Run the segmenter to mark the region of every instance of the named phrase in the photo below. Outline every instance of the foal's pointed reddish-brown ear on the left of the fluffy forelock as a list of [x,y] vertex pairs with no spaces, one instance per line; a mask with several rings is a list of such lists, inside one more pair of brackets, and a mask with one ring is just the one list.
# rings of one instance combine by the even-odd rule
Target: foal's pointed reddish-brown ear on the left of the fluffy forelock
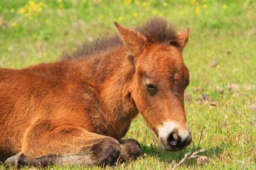
[[147,38],[145,36],[141,35],[137,31],[120,26],[117,22],[114,22],[114,24],[119,35],[122,37],[122,40],[125,42],[132,54],[136,56],[145,49],[147,45]]

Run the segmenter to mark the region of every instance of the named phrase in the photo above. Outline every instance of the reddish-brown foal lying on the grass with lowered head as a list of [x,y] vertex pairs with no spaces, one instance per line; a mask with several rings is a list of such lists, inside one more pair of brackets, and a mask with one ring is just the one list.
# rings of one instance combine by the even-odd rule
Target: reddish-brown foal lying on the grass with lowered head
[[[191,142],[184,112],[189,29],[152,19],[63,61],[0,69],[0,159],[6,164],[115,164],[141,155],[121,140],[140,112],[163,148]],[[17,154],[17,155],[15,155]]]

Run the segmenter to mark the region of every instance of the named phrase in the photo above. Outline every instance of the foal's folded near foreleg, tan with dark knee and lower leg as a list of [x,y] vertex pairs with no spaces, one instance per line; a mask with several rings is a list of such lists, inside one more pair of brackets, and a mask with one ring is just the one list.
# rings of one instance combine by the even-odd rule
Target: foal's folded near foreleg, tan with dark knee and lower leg
[[[43,120],[26,130],[21,153],[8,158],[6,164],[115,164],[121,148],[112,137],[74,126],[56,126],[51,120]],[[42,155],[45,156],[40,157]]]

